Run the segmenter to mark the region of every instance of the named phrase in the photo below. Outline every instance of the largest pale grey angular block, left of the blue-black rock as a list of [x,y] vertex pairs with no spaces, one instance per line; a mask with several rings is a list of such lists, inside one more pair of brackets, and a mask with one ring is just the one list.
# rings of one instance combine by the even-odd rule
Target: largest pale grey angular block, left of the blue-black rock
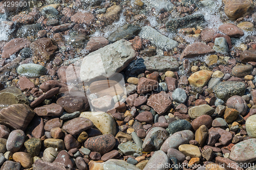
[[[90,53],[82,60],[81,81],[110,77],[123,70],[136,57],[132,43],[121,39]],[[100,68],[100,69],[99,69]]]

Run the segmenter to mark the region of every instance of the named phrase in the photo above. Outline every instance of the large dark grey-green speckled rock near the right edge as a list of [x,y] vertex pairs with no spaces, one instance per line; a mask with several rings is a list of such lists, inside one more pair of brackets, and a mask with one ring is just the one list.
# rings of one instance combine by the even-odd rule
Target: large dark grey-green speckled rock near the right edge
[[245,84],[242,82],[221,82],[214,87],[217,98],[226,101],[233,95],[242,96],[245,92]]

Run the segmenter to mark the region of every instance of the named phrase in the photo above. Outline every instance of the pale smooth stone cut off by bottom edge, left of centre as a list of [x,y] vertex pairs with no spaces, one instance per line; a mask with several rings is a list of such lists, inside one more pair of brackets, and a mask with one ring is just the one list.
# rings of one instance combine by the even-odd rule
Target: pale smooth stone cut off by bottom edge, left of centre
[[103,164],[103,170],[108,169],[119,169],[119,170],[139,170],[138,167],[136,167],[133,164],[130,164],[124,160],[118,160],[118,159],[109,159]]

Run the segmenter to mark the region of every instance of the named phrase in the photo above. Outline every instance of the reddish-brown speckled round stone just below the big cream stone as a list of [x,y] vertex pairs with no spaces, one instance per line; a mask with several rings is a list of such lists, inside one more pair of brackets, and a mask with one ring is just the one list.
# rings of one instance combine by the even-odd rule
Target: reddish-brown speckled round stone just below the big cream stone
[[84,148],[93,152],[99,152],[101,155],[110,152],[116,144],[116,139],[111,134],[89,137],[84,142]]

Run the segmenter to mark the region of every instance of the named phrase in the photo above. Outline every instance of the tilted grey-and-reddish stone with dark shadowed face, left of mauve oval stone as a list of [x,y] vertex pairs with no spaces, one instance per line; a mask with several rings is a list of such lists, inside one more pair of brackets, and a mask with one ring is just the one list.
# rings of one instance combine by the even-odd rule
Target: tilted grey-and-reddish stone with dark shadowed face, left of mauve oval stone
[[168,132],[161,127],[152,128],[146,135],[142,144],[143,152],[157,151],[167,139]]

